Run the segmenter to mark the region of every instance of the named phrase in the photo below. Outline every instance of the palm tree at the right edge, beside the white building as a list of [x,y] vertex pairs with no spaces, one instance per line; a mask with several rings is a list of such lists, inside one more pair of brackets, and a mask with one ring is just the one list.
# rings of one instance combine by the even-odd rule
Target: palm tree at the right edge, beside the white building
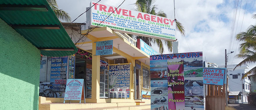
[[[256,14],[254,14],[252,18],[256,19]],[[256,63],[256,25],[250,25],[245,32],[238,33],[236,39],[242,42],[239,46],[239,54],[237,54],[236,57],[242,58],[243,61],[241,61],[235,68],[242,66],[243,64]],[[242,79],[246,78],[248,75],[253,75],[252,79],[256,81],[256,66],[246,72]]]

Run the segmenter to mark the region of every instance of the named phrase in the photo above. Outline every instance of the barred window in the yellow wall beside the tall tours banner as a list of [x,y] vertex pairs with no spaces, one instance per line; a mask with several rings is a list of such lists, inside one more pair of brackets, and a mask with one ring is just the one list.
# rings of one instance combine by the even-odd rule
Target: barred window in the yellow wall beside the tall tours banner
[[142,88],[150,89],[150,70],[142,66]]

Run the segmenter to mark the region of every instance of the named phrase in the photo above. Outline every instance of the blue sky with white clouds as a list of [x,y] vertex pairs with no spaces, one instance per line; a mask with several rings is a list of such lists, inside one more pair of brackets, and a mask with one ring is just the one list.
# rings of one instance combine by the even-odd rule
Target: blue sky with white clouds
[[[98,1],[98,0],[95,0]],[[119,6],[123,0],[102,0],[100,3]],[[120,8],[133,9],[136,0],[125,0]],[[70,14],[72,20],[86,11],[90,6],[90,0],[57,0],[59,9],[63,9]],[[185,36],[181,36],[177,31],[176,38],[179,41],[179,53],[203,52],[203,58],[207,62],[218,65],[225,64],[225,49],[228,54],[228,64],[238,64],[242,59],[234,58],[239,53],[239,44],[234,38],[237,33],[246,31],[250,25],[256,24],[256,19],[251,18],[256,14],[255,0],[239,0],[234,31],[232,30],[232,19],[234,13],[235,0],[176,0],[176,19],[185,27]],[[156,0],[158,10],[163,10],[167,18],[174,19],[173,0]],[[240,6],[241,4],[241,6]],[[246,10],[245,10],[246,6]],[[86,21],[86,14],[80,16],[74,23]],[[230,45],[230,36],[232,44]],[[187,41],[187,43],[186,43]],[[237,46],[238,44],[238,46]],[[156,45],[152,48],[159,51]],[[164,54],[169,54],[167,47],[164,47]],[[256,64],[249,65],[249,69]]]

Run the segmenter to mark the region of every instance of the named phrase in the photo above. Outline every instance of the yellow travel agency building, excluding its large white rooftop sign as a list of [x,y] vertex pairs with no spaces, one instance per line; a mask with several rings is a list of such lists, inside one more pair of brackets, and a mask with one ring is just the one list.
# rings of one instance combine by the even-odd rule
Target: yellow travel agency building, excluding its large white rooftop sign
[[[70,30],[66,29],[66,31],[69,33]],[[82,31],[82,34],[87,31]],[[149,52],[153,49],[150,49],[150,46],[142,40],[138,40],[137,43],[127,34],[113,31],[109,27],[95,28],[88,36],[90,37],[85,42],[77,43],[78,52],[74,55],[61,58],[42,57],[40,88],[51,90],[53,96],[40,97],[41,103],[63,102],[65,81],[67,79],[84,79],[86,102],[150,104]],[[113,40],[113,53],[110,55],[96,55],[98,47],[96,42],[109,40]],[[137,44],[139,47],[137,47]],[[156,52],[154,51],[154,53]],[[66,69],[54,69],[58,66]],[[50,86],[43,86],[44,84],[50,84]],[[116,98],[116,94],[113,96],[113,92],[109,94],[110,89],[116,91],[114,88],[125,89],[127,96],[122,94],[121,97],[119,93],[118,98]],[[127,98],[125,99],[125,97]],[[72,100],[71,102],[79,101]],[[41,108],[45,106],[40,105]],[[58,108],[62,107],[71,106],[61,105]],[[73,106],[72,108],[76,107]]]

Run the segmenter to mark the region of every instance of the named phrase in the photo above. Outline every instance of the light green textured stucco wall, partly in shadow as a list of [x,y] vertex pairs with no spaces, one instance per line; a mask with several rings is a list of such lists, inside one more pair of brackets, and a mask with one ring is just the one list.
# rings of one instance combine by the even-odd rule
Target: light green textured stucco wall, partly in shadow
[[37,110],[40,51],[1,18],[0,45],[0,110]]

